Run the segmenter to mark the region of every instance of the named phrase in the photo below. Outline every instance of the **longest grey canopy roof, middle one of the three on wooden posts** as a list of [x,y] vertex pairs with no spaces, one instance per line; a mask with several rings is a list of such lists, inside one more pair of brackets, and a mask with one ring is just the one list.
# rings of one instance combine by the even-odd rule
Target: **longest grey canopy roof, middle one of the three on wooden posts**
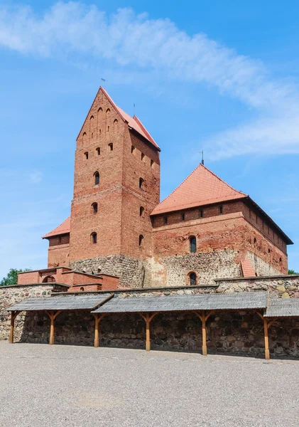
[[267,292],[240,292],[234,295],[161,295],[158,297],[117,297],[95,313],[167,312],[189,310],[245,310],[266,308]]

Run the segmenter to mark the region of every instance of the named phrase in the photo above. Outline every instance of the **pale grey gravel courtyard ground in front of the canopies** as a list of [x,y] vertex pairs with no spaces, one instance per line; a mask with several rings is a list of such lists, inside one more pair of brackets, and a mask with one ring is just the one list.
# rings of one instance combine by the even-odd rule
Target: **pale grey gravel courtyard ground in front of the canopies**
[[0,426],[299,425],[299,362],[0,342]]

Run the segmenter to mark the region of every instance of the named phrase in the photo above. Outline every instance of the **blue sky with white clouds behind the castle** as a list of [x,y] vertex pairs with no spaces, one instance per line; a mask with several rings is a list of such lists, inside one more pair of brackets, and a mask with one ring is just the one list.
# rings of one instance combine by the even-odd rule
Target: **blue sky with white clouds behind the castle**
[[162,149],[161,198],[200,162],[292,238],[299,271],[298,1],[1,1],[0,278],[44,268],[75,139],[104,88]]

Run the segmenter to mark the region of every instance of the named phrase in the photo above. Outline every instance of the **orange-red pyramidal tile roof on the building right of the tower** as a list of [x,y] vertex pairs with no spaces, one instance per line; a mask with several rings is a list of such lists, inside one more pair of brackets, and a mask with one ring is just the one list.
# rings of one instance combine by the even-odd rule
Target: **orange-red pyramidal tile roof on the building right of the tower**
[[200,164],[173,193],[153,209],[151,215],[245,197],[247,197],[247,194],[233,189],[229,184],[213,174],[210,169]]

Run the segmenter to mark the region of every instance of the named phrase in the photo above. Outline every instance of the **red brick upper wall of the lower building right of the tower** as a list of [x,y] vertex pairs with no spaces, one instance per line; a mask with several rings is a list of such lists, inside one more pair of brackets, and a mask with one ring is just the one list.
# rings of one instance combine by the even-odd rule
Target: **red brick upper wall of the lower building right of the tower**
[[[232,206],[235,208],[235,206]],[[239,263],[247,251],[281,273],[287,273],[286,254],[268,241],[241,212],[224,214],[211,218],[198,218],[178,222],[180,213],[171,214],[170,224],[154,228],[153,247],[155,256],[170,257],[190,254],[190,236],[197,238],[197,253],[221,250],[239,251],[235,262]],[[186,215],[186,218],[189,218]],[[176,223],[175,221],[178,220]],[[160,218],[155,219],[157,224]],[[256,239],[256,243],[254,243]],[[270,252],[269,252],[270,249]],[[281,261],[280,261],[281,258]],[[211,268],[213,266],[211,265]]]

